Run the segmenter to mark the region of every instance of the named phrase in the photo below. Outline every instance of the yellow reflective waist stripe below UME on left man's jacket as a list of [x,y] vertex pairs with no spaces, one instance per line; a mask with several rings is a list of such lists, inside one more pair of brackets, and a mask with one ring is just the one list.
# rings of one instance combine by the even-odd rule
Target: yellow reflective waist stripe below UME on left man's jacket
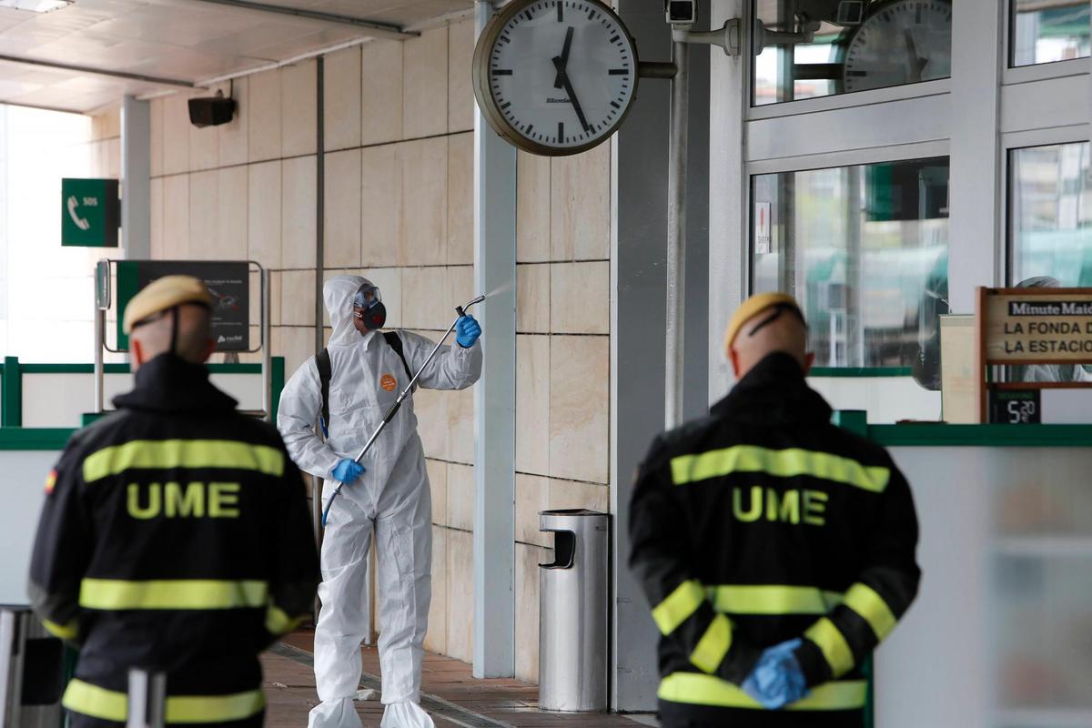
[[265,582],[85,578],[80,584],[80,606],[86,609],[236,609],[264,607],[268,594]]

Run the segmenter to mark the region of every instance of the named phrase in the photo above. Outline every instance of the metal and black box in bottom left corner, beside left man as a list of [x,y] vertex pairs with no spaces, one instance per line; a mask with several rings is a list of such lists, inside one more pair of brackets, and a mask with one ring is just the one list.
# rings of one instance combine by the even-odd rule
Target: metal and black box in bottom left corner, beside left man
[[0,606],[0,728],[61,725],[64,646],[25,607]]

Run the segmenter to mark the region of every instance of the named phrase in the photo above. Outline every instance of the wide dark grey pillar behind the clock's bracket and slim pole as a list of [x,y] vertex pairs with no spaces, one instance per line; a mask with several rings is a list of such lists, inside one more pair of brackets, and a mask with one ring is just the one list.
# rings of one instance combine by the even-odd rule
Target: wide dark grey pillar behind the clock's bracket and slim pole
[[[618,11],[637,40],[641,60],[670,57],[663,4],[619,0]],[[700,3],[709,28],[709,3]],[[717,50],[716,52],[721,52]],[[642,79],[633,108],[615,136],[612,155],[610,511],[615,514],[612,620],[612,708],[653,711],[656,704],[656,628],[631,576],[629,499],[632,476],[664,421],[664,336],[667,239],[669,83]],[[709,48],[690,49],[690,144],[687,180],[686,337],[684,415],[708,406],[709,319]]]

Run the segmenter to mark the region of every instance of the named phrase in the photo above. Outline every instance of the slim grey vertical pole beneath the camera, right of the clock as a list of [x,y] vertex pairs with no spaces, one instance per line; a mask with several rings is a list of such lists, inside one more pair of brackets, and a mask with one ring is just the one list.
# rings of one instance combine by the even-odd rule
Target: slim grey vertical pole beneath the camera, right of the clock
[[682,39],[672,43],[670,121],[667,147],[667,321],[664,426],[682,423],[682,354],[686,303],[686,176],[689,146],[690,49]]

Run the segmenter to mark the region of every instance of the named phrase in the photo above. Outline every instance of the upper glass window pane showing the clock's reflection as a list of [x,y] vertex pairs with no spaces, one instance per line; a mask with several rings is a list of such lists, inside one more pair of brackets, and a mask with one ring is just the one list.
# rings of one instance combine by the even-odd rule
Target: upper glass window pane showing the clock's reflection
[[753,104],[951,74],[948,0],[755,0]]

